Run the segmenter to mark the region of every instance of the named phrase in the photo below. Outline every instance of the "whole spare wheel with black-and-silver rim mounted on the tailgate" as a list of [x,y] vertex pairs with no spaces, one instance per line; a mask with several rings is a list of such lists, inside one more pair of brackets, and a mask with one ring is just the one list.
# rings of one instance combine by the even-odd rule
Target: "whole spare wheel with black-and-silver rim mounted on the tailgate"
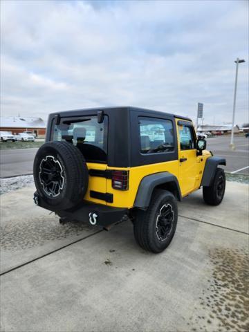
[[89,182],[86,160],[69,142],[46,142],[39,148],[33,168],[41,199],[58,210],[73,208],[82,201]]

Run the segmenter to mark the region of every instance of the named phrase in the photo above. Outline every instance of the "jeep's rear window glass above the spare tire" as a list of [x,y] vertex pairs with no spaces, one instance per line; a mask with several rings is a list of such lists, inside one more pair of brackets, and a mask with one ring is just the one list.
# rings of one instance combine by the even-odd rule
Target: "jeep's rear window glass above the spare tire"
[[53,126],[52,140],[64,140],[75,145],[86,161],[107,163],[108,118],[98,123],[97,116],[62,118]]

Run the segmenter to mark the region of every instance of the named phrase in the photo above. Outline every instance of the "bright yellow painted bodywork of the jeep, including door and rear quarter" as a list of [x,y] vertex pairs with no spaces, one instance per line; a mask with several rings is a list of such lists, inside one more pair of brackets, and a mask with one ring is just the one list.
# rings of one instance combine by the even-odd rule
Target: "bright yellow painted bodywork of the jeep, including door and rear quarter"
[[[116,169],[122,171],[129,171],[129,190],[116,190],[111,186],[111,179],[102,178],[100,176],[89,176],[89,188],[86,192],[85,199],[93,203],[100,203],[104,205],[113,206],[116,208],[133,208],[133,203],[136,199],[140,181],[147,175],[158,172],[169,172],[174,174],[178,179],[181,195],[186,196],[190,192],[199,189],[203,170],[207,158],[211,156],[210,152],[203,151],[202,156],[196,156],[196,149],[181,151],[178,125],[176,119],[176,130],[178,138],[178,160],[165,161],[164,163],[155,163],[149,165],[141,165],[137,167],[109,167],[105,164],[87,163],[89,169]],[[183,163],[180,163],[180,158],[187,158]],[[90,190],[102,193],[113,194],[113,203],[106,203],[100,199],[93,199],[90,197]]]

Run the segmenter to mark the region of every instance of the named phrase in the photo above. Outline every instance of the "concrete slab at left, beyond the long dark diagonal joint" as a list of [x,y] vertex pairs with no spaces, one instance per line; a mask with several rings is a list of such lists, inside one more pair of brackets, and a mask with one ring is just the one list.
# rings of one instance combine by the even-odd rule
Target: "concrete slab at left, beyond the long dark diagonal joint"
[[60,225],[54,213],[33,203],[34,192],[35,187],[26,187],[0,198],[0,273],[98,232],[83,223]]

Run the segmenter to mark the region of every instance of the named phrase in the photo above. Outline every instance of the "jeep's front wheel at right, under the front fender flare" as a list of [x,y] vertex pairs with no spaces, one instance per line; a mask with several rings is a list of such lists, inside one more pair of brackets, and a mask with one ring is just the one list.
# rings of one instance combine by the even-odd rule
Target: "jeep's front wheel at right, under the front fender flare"
[[[221,188],[222,186],[222,188]],[[210,187],[203,187],[203,199],[208,205],[219,205],[225,194],[225,172],[217,168]]]

